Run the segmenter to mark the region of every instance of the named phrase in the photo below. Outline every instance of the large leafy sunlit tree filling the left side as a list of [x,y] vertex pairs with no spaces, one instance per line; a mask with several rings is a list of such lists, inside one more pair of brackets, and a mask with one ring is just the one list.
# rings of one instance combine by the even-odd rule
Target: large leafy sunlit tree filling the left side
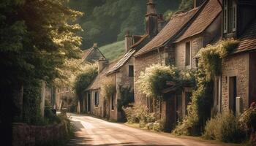
[[2,142],[10,144],[14,97],[30,80],[61,78],[64,61],[79,58],[81,28],[72,22],[82,13],[64,7],[64,0],[6,0],[0,7],[0,123]]

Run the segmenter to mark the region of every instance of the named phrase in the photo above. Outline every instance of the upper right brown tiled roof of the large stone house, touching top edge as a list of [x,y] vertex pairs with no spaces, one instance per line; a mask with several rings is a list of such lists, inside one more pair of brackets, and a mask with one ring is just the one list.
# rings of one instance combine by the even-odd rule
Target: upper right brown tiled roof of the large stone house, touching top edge
[[181,34],[175,42],[180,42],[188,37],[200,34],[211,25],[211,23],[217,18],[222,12],[222,7],[218,0],[209,0],[203,7],[202,11],[197,15],[197,18],[193,20],[192,24],[189,25],[186,31]]

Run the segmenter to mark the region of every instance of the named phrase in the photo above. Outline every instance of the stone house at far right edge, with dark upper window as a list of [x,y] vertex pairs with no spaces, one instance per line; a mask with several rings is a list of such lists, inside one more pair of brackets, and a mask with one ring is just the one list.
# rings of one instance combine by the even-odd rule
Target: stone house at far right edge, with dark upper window
[[222,38],[240,41],[214,80],[214,110],[239,115],[256,101],[256,1],[222,0]]

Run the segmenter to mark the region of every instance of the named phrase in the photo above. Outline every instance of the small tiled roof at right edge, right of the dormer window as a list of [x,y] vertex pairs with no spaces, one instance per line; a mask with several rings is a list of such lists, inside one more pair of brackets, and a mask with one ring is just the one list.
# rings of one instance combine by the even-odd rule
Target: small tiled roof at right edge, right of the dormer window
[[240,44],[234,53],[256,49],[256,19],[249,24],[249,27],[240,37]]

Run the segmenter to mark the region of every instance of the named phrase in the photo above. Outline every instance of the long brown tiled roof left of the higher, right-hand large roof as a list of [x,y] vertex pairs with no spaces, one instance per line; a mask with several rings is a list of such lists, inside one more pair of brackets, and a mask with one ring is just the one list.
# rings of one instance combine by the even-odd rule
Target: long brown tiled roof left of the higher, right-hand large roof
[[157,34],[154,39],[148,42],[143,48],[141,48],[135,56],[148,53],[151,50],[154,50],[156,47],[163,45],[169,39],[175,37],[175,35],[183,28],[189,20],[195,15],[198,8],[192,9],[189,12],[183,12],[181,14],[174,15],[173,18],[166,24],[164,28]]

